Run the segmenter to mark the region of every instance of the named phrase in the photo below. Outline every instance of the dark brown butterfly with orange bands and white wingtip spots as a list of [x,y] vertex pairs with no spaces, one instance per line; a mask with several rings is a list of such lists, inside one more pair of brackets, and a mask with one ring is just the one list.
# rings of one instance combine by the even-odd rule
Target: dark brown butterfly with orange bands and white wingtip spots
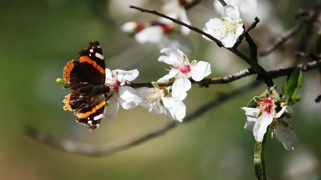
[[98,41],[89,42],[79,52],[78,60],[68,61],[64,68],[64,80],[73,90],[65,96],[64,110],[74,111],[77,122],[92,131],[99,127],[105,102],[112,96],[105,85],[105,61]]

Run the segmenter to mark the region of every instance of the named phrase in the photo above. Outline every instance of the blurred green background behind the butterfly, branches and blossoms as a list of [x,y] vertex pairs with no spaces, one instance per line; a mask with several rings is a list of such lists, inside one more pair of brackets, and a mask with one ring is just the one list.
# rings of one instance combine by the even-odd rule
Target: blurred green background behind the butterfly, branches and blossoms
[[[188,12],[196,27],[219,16],[212,0],[205,0]],[[259,51],[284,34],[298,21],[293,14],[299,8],[313,8],[316,1],[259,1],[269,7],[261,26],[251,31]],[[255,179],[253,170],[254,137],[243,129],[246,117],[239,109],[263,92],[261,85],[245,85],[255,76],[224,85],[211,85],[188,91],[187,114],[213,101],[222,93],[243,88],[244,93],[220,106],[199,114],[193,121],[170,130],[133,148],[104,157],[66,153],[41,144],[24,134],[30,125],[56,138],[71,139],[92,146],[118,142],[157,129],[171,120],[153,118],[143,107],[120,109],[114,121],[104,119],[99,129],[89,132],[75,122],[71,112],[62,109],[62,100],[70,90],[53,81],[62,77],[68,60],[89,41],[98,40],[110,69],[138,69],[135,82],[156,81],[167,72],[157,61],[161,55],[154,44],[138,44],[122,34],[119,27],[127,21],[147,22],[156,16],[128,9],[129,4],[160,9],[161,1],[1,1],[0,57],[2,133],[0,138],[1,180],[56,179]],[[260,17],[259,17],[260,18]],[[247,23],[248,24],[248,23]],[[314,34],[316,31],[314,31]],[[212,65],[210,77],[220,77],[247,68],[247,64],[192,32],[189,59],[205,60]],[[280,51],[260,59],[267,70],[293,65],[300,34]],[[240,47],[248,54],[247,44]],[[292,48],[292,49],[291,49]],[[311,48],[313,50],[313,48]],[[302,62],[302,61],[299,61]],[[275,80],[280,88],[286,78]],[[321,105],[314,99],[321,93],[316,70],[304,73],[303,100],[293,114],[293,127],[300,141],[290,152],[276,139],[268,138],[266,169],[268,179],[321,179]]]

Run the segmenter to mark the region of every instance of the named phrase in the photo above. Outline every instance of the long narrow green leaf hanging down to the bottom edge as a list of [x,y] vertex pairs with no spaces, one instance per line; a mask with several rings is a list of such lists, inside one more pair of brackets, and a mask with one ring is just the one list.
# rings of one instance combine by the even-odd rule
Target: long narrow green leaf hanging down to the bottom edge
[[265,144],[267,132],[264,134],[263,141],[256,141],[254,146],[254,169],[258,180],[266,180],[265,172]]

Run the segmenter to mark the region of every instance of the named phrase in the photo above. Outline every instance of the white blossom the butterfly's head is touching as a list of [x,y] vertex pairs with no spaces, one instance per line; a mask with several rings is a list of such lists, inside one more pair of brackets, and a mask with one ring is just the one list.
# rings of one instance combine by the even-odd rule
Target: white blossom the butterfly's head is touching
[[142,99],[137,96],[132,87],[124,86],[126,81],[133,81],[138,74],[137,69],[131,71],[106,69],[105,84],[109,85],[110,91],[113,91],[113,96],[109,99],[108,106],[105,108],[106,117],[109,120],[115,119],[119,104],[124,109],[133,109],[142,102]]

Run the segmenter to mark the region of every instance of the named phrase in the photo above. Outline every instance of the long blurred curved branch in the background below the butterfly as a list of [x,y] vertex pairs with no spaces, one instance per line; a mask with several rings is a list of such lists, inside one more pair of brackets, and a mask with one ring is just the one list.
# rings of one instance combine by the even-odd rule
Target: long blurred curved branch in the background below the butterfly
[[221,93],[220,95],[217,96],[216,99],[204,104],[203,106],[196,109],[193,113],[186,116],[183,122],[172,121],[163,127],[153,129],[152,131],[146,132],[135,138],[123,140],[123,141],[117,141],[115,143],[108,143],[106,145],[95,146],[91,144],[72,141],[70,139],[57,139],[55,137],[52,137],[48,133],[40,132],[37,129],[34,129],[32,127],[27,127],[25,133],[28,136],[34,138],[35,140],[41,143],[47,144],[53,148],[61,149],[69,153],[77,153],[77,154],[83,154],[83,155],[89,155],[89,156],[110,155],[118,151],[129,149],[133,146],[139,145],[155,137],[162,136],[169,130],[178,127],[178,125],[180,124],[186,124],[188,122],[194,121],[198,116],[202,115],[208,110],[213,109],[217,106],[220,106],[222,102],[226,102],[230,99],[233,99],[243,93],[248,92],[248,90],[250,89],[258,87],[259,85],[261,85],[261,82],[256,81],[254,83],[247,84],[239,89],[233,90],[229,93]]

